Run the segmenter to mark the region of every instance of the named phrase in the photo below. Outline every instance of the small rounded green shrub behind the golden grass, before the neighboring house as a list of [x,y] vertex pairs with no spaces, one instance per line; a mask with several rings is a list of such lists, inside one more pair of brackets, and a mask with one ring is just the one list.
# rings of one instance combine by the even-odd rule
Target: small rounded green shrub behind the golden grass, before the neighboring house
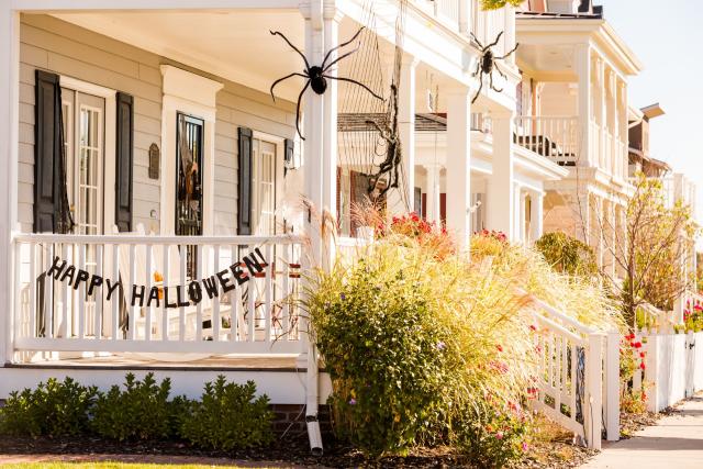
[[579,277],[598,275],[593,249],[566,233],[547,233],[535,243],[535,248],[558,272]]

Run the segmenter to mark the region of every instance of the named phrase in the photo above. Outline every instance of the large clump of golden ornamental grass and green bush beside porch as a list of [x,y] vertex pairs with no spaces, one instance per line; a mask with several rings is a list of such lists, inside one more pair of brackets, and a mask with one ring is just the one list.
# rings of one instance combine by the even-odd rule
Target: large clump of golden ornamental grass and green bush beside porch
[[475,236],[469,259],[416,215],[364,213],[377,239],[313,272],[305,294],[337,436],[371,455],[451,445],[481,467],[518,459],[537,376],[532,297],[603,330],[621,324],[614,306],[500,233]]

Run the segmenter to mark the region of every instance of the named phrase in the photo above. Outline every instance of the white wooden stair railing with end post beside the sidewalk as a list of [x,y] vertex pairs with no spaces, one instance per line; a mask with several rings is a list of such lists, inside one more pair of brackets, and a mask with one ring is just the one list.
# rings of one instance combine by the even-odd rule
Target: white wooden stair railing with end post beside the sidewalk
[[533,299],[537,322],[534,407],[600,449],[620,438],[620,334],[588,327]]

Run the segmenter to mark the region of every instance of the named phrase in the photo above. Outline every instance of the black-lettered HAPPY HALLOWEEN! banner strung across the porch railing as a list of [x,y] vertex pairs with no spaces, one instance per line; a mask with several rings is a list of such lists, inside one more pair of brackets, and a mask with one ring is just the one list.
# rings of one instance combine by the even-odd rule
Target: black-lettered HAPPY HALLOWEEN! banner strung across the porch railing
[[[96,273],[90,273],[87,270],[79,269],[76,266],[68,264],[67,260],[62,260],[60,257],[54,257],[54,263],[49,269],[42,273],[40,278],[49,277],[54,280],[67,282],[74,290],[78,290],[81,284],[87,287],[88,295],[92,295],[97,288],[103,288],[107,291],[105,300],[110,301],[112,295],[118,292],[120,295],[125,295],[125,291],[130,293],[129,302],[131,305],[140,308],[142,306],[161,306],[161,300],[164,300],[165,308],[181,308],[196,305],[200,303],[204,295],[209,299],[219,297],[220,291],[227,293],[234,290],[237,286],[244,284],[252,277],[264,271],[264,268],[268,266],[268,263],[264,258],[264,255],[259,248],[255,248],[253,253],[244,256],[242,261],[234,263],[224,270],[216,272],[210,277],[202,278],[200,280],[191,280],[185,286],[154,286],[147,288],[144,284],[122,284],[122,279],[114,281]],[[148,273],[147,273],[148,275]],[[155,277],[157,272],[154,273]],[[160,281],[160,280],[159,280]],[[107,290],[104,289],[107,288]]]

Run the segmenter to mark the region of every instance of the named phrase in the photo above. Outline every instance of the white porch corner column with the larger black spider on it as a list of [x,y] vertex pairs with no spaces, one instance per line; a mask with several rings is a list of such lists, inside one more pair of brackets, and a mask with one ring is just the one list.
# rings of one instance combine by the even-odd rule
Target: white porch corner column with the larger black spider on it
[[[314,4],[313,4],[314,3]],[[324,53],[324,24],[322,7],[312,2],[302,7],[305,19],[305,56],[310,64],[321,64]],[[327,80],[327,86],[332,83]],[[304,197],[310,204],[305,219],[305,234],[310,237],[310,263],[320,266],[323,260],[323,239],[321,217],[324,210],[324,98],[309,90],[304,94],[303,142],[304,156]]]

